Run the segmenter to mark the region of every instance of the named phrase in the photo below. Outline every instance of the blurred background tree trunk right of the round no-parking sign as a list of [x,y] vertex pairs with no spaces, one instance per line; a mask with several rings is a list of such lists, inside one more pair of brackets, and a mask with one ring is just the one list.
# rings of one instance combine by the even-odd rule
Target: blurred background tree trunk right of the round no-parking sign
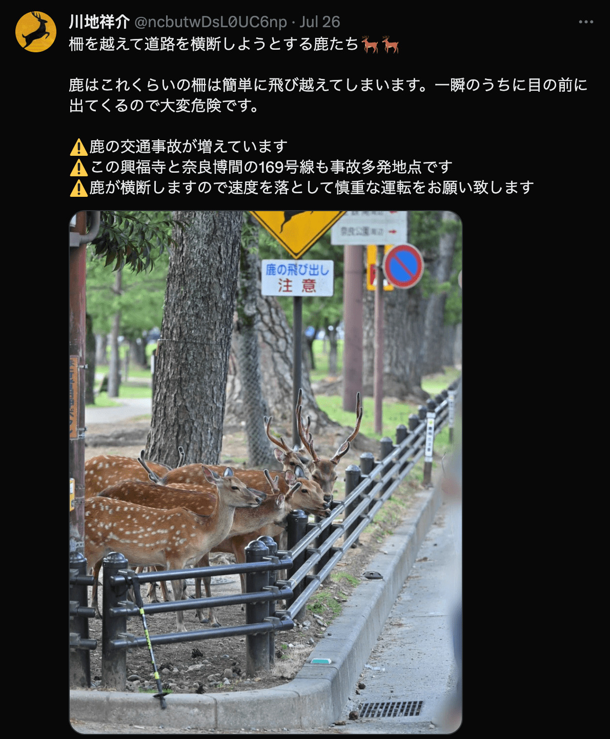
[[[458,222],[452,211],[441,211],[441,222]],[[446,282],[451,276],[453,252],[458,231],[450,228],[438,239],[438,257],[430,271],[437,284]],[[427,301],[424,318],[424,341],[421,344],[421,365],[424,375],[441,372],[443,369],[443,333],[446,293],[433,293]]]

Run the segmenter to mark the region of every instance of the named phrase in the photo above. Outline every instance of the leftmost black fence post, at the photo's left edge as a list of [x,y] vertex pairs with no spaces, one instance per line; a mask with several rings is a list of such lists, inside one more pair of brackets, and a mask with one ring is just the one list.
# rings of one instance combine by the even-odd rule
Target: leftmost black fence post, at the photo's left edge
[[[72,582],[72,578],[81,582]],[[81,552],[70,552],[70,687],[91,687],[91,663],[89,660],[89,615],[95,611],[87,608],[87,559]],[[92,578],[91,578],[92,579]]]

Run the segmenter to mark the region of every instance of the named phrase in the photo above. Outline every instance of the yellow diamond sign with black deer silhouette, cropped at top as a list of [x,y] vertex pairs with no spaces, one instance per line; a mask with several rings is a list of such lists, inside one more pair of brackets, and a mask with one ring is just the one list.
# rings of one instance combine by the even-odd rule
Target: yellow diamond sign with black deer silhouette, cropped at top
[[336,223],[345,211],[250,211],[294,259]]

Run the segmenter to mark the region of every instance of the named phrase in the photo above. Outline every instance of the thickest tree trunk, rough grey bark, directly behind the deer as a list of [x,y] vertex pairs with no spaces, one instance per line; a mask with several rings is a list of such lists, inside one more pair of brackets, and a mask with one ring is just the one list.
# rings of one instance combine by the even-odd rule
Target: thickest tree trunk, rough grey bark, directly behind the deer
[[146,454],[217,464],[223,440],[241,211],[177,211]]

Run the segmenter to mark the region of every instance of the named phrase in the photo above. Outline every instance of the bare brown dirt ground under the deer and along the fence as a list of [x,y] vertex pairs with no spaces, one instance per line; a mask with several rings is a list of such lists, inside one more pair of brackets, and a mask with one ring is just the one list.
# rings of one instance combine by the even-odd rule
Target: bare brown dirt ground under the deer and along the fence
[[[137,423],[125,422],[124,426],[142,426],[148,428],[148,421]],[[121,424],[117,424],[120,426]],[[113,424],[90,425],[88,435],[107,434],[115,429]],[[144,430],[143,438],[146,437]],[[346,434],[347,435],[347,434]],[[344,437],[345,439],[345,437]],[[336,434],[316,436],[316,449],[321,454],[333,454],[342,439]],[[363,437],[357,445],[359,449],[350,449],[342,457],[339,464],[339,479],[337,480],[334,497],[342,500],[345,491],[345,482],[342,472],[350,464],[359,463],[359,455],[363,449],[370,451],[378,449],[377,442],[367,443]],[[86,460],[98,454],[120,454],[126,457],[137,457],[143,444],[136,446],[87,446]],[[243,432],[236,431],[223,437],[221,463],[234,467],[235,471],[243,466],[246,459],[245,438]],[[395,494],[398,496],[401,509],[406,511],[412,492],[419,489],[419,483],[405,480]],[[393,521],[394,524],[399,520]],[[183,644],[157,645],[154,647],[155,661],[160,672],[163,689],[174,693],[211,693],[235,690],[257,689],[273,687],[291,680],[300,670],[306,658],[316,644],[329,631],[332,633],[332,619],[341,610],[341,604],[346,602],[350,592],[362,580],[362,574],[373,556],[383,548],[382,528],[389,531],[393,528],[392,522],[383,526],[370,526],[360,537],[359,544],[345,554],[341,562],[327,579],[322,588],[314,593],[305,613],[305,617],[296,622],[293,630],[276,634],[276,663],[274,669],[267,674],[248,676],[245,674],[245,637],[236,636],[221,639],[206,639]],[[339,539],[339,543],[340,543]],[[212,554],[211,564],[233,562],[231,555]],[[193,583],[193,581],[190,581]],[[187,584],[189,581],[187,581]],[[89,594],[91,589],[89,588]],[[224,595],[240,592],[239,576],[223,576],[212,580],[212,595]],[[146,603],[146,585],[141,590],[143,601]],[[160,596],[159,589],[157,593]],[[194,596],[194,585],[187,589],[189,596]],[[101,589],[100,589],[101,607]],[[217,610],[217,617],[223,626],[243,624],[245,614],[240,605],[226,606]],[[209,629],[209,624],[200,624],[194,610],[184,612],[187,629]],[[174,613],[157,613],[147,615],[146,621],[151,636],[160,633],[169,633],[176,630]],[[128,621],[128,630],[134,636],[143,636],[143,624],[139,617]],[[98,639],[98,648],[91,653],[92,683],[99,687],[101,684],[101,620],[89,620],[89,636]],[[144,648],[129,650],[127,655],[127,677],[129,690],[134,692],[150,690],[157,692],[152,677],[152,664],[149,651]]]

